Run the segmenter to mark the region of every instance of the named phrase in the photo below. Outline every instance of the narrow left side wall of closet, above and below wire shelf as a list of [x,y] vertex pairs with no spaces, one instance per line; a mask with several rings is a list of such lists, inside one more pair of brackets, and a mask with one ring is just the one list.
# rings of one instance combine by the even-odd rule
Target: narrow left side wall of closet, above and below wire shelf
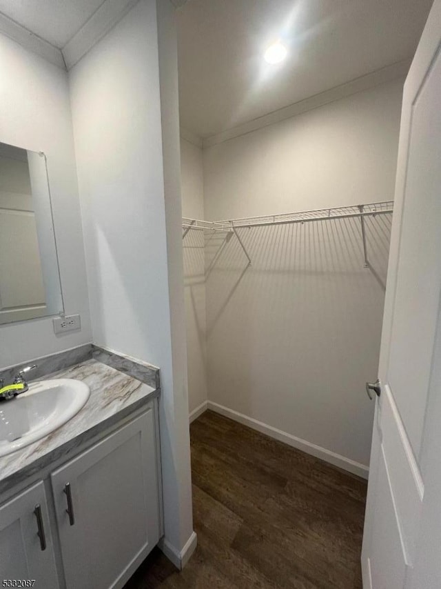
[[[202,150],[182,137],[181,186],[183,217],[203,219]],[[188,405],[190,412],[207,401],[204,246],[203,231],[190,230],[183,239]]]

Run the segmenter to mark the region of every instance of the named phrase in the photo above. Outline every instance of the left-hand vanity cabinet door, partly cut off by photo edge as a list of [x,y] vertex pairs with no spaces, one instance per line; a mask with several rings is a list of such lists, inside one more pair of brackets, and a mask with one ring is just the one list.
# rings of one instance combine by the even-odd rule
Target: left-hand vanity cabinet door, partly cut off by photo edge
[[0,581],[6,579],[59,587],[42,482],[0,507]]

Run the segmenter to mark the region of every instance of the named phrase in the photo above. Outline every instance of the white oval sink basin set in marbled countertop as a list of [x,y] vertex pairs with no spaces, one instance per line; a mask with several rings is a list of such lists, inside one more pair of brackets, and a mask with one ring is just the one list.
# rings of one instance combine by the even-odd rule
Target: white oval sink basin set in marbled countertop
[[72,419],[89,399],[87,384],[52,379],[29,385],[10,401],[0,401],[0,456],[20,450]]

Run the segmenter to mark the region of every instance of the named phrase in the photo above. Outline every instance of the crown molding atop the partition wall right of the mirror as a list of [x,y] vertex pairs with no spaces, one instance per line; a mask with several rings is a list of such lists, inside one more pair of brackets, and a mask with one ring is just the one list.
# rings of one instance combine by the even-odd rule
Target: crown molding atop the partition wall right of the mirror
[[104,35],[121,21],[139,0],[105,0],[61,50],[66,69],[78,63]]

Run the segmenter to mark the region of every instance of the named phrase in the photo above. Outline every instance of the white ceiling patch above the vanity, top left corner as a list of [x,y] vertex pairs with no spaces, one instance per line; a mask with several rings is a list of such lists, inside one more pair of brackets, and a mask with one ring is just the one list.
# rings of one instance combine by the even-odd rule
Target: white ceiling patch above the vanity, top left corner
[[0,0],[0,12],[62,49],[104,0]]

